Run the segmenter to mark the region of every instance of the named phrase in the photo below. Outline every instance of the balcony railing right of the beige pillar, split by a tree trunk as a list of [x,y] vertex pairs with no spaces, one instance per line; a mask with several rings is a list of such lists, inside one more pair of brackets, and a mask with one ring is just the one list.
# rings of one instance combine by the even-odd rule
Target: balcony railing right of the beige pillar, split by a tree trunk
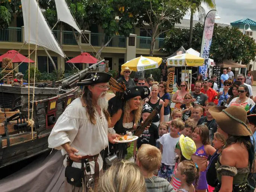
[[[155,39],[155,49],[160,49],[163,46],[165,38]],[[139,49],[150,49],[151,37],[140,37],[137,36],[136,47]]]

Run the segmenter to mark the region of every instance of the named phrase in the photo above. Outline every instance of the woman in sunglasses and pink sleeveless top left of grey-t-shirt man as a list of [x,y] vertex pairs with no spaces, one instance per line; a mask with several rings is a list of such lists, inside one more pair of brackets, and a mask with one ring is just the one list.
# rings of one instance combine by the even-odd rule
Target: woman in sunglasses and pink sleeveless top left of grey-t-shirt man
[[188,93],[188,87],[186,81],[181,81],[180,90],[174,93],[172,102],[175,103],[174,109],[181,109],[180,106],[183,104],[184,96]]

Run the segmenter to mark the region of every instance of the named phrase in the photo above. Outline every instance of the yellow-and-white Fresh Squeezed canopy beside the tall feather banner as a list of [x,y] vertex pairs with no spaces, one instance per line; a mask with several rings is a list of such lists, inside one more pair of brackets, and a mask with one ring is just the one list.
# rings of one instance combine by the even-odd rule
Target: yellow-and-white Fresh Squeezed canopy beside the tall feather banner
[[183,53],[181,55],[176,55],[167,59],[166,65],[172,67],[182,67],[182,66],[203,66],[204,58],[199,56],[191,55],[189,53]]

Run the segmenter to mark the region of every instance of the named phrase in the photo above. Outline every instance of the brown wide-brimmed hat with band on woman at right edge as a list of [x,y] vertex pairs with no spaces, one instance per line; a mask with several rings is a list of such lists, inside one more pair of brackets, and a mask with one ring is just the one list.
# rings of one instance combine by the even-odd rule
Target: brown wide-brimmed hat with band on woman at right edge
[[251,136],[251,130],[247,127],[247,114],[243,107],[230,106],[212,107],[209,113],[225,133],[232,136]]

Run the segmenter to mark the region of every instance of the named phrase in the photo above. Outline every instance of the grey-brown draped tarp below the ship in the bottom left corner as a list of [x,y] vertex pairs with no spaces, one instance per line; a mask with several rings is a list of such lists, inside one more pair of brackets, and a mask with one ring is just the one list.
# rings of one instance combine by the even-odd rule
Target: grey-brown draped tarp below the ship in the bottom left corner
[[53,150],[50,155],[37,158],[20,171],[0,180],[0,192],[63,192],[64,156]]

